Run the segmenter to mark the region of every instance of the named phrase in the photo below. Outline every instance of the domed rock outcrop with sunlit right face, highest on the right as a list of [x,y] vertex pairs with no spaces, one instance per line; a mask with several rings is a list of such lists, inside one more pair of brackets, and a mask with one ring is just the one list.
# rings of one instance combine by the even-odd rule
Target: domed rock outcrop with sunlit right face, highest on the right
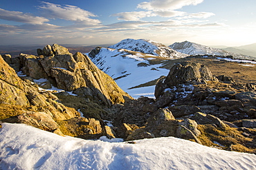
[[212,73],[205,65],[200,63],[180,63],[174,65],[165,79],[168,87],[184,83],[203,83],[214,80]]

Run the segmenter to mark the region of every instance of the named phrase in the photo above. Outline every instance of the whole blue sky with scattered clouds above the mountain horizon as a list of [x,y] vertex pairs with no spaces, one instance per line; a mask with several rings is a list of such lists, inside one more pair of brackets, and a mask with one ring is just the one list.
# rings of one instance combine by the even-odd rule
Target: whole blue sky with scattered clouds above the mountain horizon
[[0,45],[256,43],[255,0],[1,0]]

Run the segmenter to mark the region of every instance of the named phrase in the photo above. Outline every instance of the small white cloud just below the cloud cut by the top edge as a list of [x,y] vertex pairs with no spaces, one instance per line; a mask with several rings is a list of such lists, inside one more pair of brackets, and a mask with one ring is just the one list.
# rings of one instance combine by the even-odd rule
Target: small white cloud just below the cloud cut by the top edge
[[120,12],[118,14],[112,14],[113,17],[118,17],[118,20],[125,21],[140,21],[141,18],[154,17],[156,14],[151,11],[139,11],[139,12]]

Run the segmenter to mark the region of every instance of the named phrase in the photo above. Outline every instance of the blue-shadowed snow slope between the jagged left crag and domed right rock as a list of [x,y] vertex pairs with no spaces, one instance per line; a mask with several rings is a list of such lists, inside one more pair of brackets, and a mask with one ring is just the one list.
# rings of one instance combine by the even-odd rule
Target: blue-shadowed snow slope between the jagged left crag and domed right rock
[[137,85],[153,81],[166,76],[169,70],[159,68],[161,65],[151,65],[150,60],[158,57],[152,54],[132,52],[129,50],[113,50],[111,48],[98,48],[97,54],[89,54],[91,61],[100,70],[111,76],[121,89],[134,98],[148,96],[154,98],[154,87],[133,88]]

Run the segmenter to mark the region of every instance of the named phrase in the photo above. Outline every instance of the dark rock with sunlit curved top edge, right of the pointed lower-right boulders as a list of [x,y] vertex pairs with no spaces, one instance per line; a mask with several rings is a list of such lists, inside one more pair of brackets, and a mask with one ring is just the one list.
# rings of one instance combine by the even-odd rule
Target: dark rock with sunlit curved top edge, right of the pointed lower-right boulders
[[196,114],[194,114],[194,120],[199,125],[215,124],[221,128],[226,127],[226,125],[219,118],[212,116],[210,114],[203,114],[201,112],[196,112]]

